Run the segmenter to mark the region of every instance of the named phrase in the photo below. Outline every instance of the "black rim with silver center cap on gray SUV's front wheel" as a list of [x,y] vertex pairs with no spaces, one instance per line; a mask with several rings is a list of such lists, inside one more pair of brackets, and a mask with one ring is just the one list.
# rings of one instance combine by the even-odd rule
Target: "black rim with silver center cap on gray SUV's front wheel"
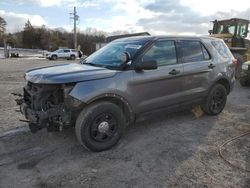
[[90,134],[95,141],[106,142],[115,136],[117,127],[117,120],[112,114],[102,113],[94,118]]

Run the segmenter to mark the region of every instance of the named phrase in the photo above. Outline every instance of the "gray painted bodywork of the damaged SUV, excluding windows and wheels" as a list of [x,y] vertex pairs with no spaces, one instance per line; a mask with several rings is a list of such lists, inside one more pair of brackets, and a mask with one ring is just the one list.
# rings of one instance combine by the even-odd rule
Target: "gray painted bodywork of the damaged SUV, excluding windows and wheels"
[[[145,37],[146,38],[146,37]],[[137,37],[123,40],[138,40]],[[140,39],[144,39],[140,37]],[[73,83],[70,95],[84,103],[94,99],[113,96],[128,102],[134,113],[144,113],[164,107],[181,106],[185,102],[203,99],[209,88],[219,79],[234,83],[234,67],[232,57],[222,58],[210,44],[209,37],[147,37],[152,41],[171,39],[198,40],[204,43],[212,54],[212,59],[201,62],[182,63],[160,66],[156,70],[136,71],[132,67],[140,61],[140,56],[132,61],[131,69],[124,71],[108,70],[87,65],[62,65],[36,69],[26,73],[26,79],[34,83],[64,84]],[[143,52],[142,52],[143,54]],[[210,69],[210,64],[215,68]],[[171,75],[171,70],[179,74]]]

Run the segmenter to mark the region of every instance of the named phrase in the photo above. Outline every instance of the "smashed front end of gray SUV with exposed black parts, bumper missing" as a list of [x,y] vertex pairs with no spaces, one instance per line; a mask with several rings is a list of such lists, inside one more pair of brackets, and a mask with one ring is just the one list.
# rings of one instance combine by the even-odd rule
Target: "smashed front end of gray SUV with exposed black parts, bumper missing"
[[69,95],[73,87],[74,84],[27,83],[22,98],[16,101],[31,132],[42,128],[59,131],[74,123],[82,103]]

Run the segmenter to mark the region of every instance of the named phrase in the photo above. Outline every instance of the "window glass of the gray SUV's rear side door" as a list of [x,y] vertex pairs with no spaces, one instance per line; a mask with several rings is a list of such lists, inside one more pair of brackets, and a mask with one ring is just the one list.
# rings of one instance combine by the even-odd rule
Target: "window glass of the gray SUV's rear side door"
[[180,41],[182,51],[182,62],[196,62],[209,60],[210,55],[200,41],[182,40]]

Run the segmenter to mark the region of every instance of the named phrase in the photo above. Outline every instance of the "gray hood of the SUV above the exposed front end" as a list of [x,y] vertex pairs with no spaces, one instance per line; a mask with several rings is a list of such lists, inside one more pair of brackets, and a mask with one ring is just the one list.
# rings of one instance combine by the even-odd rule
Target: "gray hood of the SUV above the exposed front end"
[[71,63],[29,70],[25,79],[32,83],[63,84],[108,78],[116,73],[102,67]]

